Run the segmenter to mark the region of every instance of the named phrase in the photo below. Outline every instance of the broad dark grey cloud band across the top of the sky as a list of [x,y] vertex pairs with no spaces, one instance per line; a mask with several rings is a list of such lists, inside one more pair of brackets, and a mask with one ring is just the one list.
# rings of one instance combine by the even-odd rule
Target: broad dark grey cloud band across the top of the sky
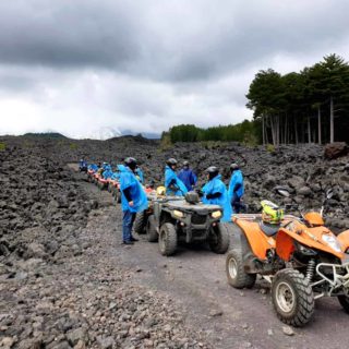
[[11,0],[0,62],[195,81],[348,35],[349,2]]

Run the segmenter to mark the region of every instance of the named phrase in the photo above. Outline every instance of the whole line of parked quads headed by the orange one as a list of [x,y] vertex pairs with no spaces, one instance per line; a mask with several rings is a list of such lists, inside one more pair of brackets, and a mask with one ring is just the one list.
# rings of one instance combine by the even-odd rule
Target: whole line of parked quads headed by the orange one
[[[120,202],[118,182],[88,177]],[[164,188],[146,188],[149,207],[137,215],[134,229],[149,242],[158,241],[166,256],[174,254],[180,241],[207,242],[215,253],[228,252],[228,284],[242,289],[252,288],[257,277],[270,282],[276,314],[288,325],[305,325],[313,317],[315,300],[323,297],[337,298],[349,313],[349,230],[335,234],[323,219],[333,191],[326,192],[320,212],[303,213],[288,188],[275,190],[290,204],[279,207],[263,201],[262,214],[237,214],[232,224],[222,224],[221,208],[202,204],[196,193],[171,197]],[[285,209],[298,214],[285,215]]]

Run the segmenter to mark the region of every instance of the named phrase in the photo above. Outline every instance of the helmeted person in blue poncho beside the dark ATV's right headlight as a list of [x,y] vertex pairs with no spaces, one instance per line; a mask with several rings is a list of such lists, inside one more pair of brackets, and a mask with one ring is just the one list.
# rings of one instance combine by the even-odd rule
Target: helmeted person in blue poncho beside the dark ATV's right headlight
[[206,169],[208,182],[202,189],[203,203],[210,205],[219,205],[222,208],[222,218],[220,221],[231,221],[231,206],[226,184],[221,181],[221,176],[216,166]]

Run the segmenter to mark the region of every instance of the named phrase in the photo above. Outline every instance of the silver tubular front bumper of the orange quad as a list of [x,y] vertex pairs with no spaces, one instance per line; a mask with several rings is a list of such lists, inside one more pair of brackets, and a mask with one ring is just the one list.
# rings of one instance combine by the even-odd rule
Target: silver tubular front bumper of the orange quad
[[[327,269],[326,274],[324,269]],[[328,269],[332,270],[332,278],[328,277]],[[321,280],[311,284],[312,288],[315,286],[327,284],[329,286],[329,289],[316,294],[315,299],[322,298],[324,296],[337,296],[336,292],[340,291],[340,288],[347,289],[349,291],[349,262],[346,264],[320,263],[316,265],[316,274],[321,277]]]

